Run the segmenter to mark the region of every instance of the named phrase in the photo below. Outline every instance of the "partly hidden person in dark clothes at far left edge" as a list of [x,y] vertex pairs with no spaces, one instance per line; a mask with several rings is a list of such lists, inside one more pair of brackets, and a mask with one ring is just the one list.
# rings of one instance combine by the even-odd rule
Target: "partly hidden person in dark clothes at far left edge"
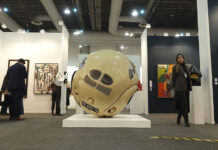
[[[9,107],[10,104],[10,98],[11,95],[8,92],[8,79],[7,79],[7,75],[5,75],[3,83],[2,83],[2,87],[1,87],[1,92],[2,94],[4,94],[4,102],[2,104],[2,108],[1,108],[1,114],[2,115],[6,115],[7,114],[7,108]],[[10,109],[9,109],[9,113],[10,113]]]

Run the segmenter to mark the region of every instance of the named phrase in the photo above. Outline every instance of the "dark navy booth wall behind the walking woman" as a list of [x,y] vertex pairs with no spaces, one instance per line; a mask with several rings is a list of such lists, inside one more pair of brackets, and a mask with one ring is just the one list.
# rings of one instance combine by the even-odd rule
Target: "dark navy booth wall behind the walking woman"
[[[175,64],[176,55],[182,53],[187,64],[200,68],[198,37],[148,37],[148,89],[149,113],[174,113],[175,99],[158,97],[158,64]],[[149,85],[150,86],[150,85]]]

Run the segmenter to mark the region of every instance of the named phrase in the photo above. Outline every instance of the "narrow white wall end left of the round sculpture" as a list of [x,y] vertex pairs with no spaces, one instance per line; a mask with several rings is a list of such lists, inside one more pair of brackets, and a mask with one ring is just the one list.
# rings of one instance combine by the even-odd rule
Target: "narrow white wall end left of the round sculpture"
[[[68,66],[68,44],[69,44],[69,33],[64,25],[62,25],[61,35],[61,65],[60,72],[64,73],[67,71]],[[65,76],[67,78],[67,76]],[[66,95],[67,95],[67,84],[61,86],[61,114],[66,113]]]

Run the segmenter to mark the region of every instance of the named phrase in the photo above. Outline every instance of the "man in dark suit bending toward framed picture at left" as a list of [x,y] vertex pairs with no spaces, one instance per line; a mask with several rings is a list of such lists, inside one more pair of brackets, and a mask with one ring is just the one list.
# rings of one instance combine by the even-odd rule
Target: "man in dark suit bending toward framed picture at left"
[[10,120],[23,120],[20,118],[21,105],[26,85],[27,71],[24,59],[19,59],[7,72],[8,89],[11,92]]

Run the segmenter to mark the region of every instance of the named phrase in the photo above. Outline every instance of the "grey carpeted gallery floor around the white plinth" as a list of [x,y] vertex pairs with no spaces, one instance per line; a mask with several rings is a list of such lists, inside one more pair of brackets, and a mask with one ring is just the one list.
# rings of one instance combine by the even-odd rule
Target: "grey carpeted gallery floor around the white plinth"
[[25,114],[23,121],[0,116],[0,150],[218,150],[218,125],[178,126],[176,114],[144,115],[150,129],[62,128],[74,113]]

